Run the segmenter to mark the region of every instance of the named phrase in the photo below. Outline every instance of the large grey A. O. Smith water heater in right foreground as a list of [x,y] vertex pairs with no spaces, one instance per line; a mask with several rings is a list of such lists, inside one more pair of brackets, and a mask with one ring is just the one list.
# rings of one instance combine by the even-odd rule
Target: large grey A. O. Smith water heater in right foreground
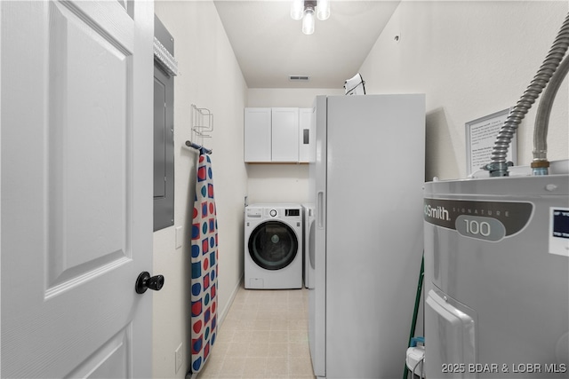
[[566,173],[425,184],[428,378],[569,377],[568,196]]

